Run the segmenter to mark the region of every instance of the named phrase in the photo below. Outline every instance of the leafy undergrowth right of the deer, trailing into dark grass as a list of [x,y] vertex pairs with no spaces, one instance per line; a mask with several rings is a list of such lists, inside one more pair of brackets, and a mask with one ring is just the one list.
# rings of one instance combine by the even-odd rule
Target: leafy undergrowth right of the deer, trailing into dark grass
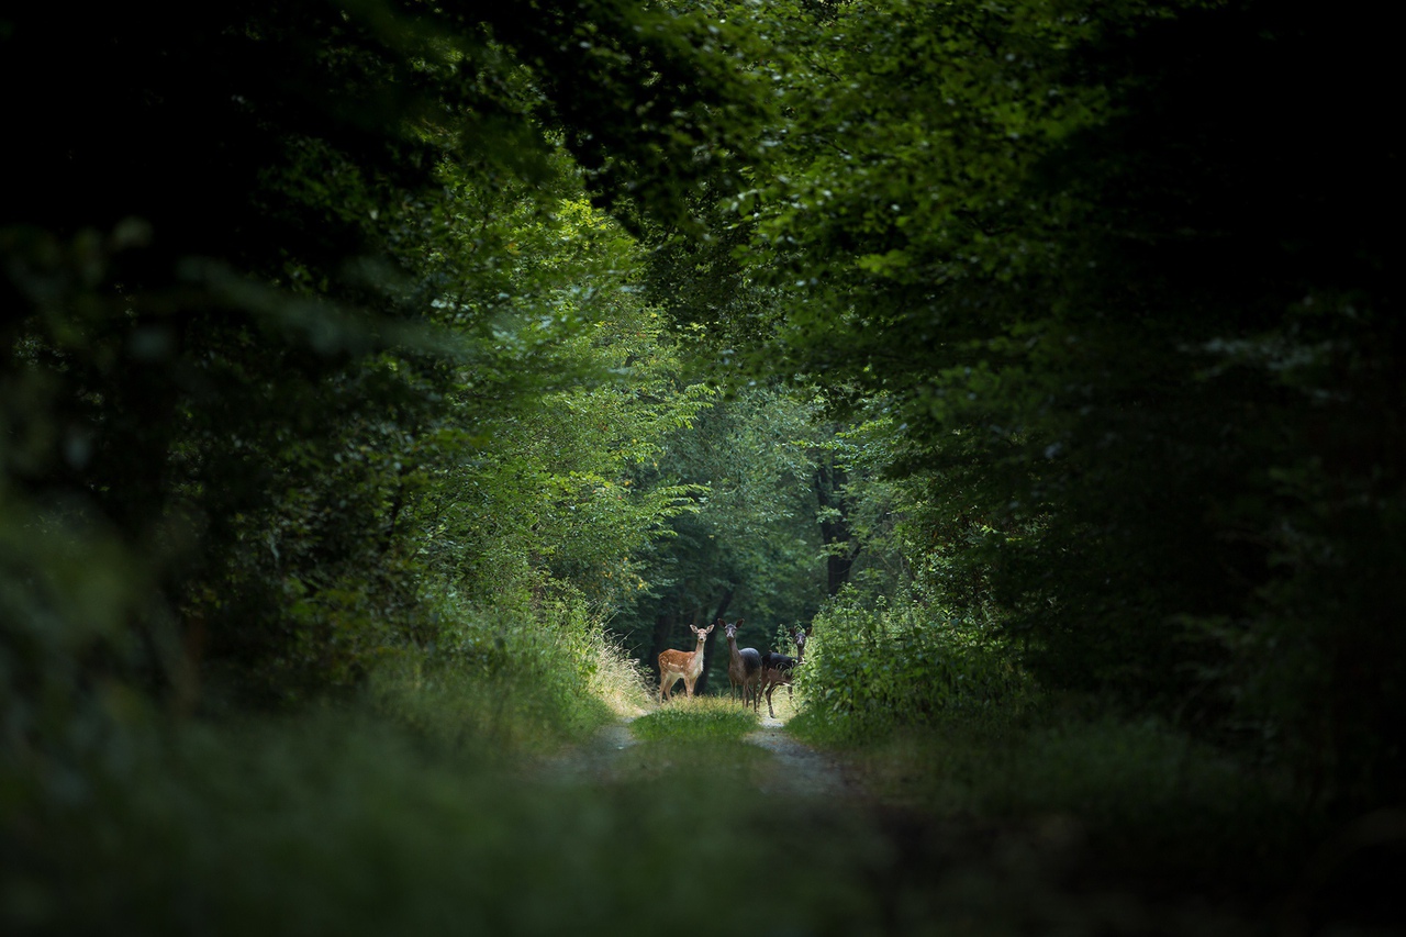
[[1123,871],[1209,891],[1292,878],[1322,820],[1268,772],[1156,719],[1085,715],[972,622],[907,597],[841,597],[813,626],[799,739],[844,753],[882,799],[942,817],[1060,817]]

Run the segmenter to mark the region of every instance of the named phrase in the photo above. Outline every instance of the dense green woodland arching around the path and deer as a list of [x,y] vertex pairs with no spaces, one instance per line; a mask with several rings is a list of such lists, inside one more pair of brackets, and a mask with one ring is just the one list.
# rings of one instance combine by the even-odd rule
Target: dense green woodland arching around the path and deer
[[[495,772],[650,706],[717,619],[808,629],[818,743],[898,740],[920,774],[960,739],[1043,753],[979,812],[1174,750],[1230,779],[1164,826],[1272,855],[1257,893],[1337,875],[1312,857],[1343,830],[1375,850],[1354,878],[1400,871],[1386,8],[0,13],[0,929],[447,929],[356,910],[343,840],[297,858],[217,817],[283,805],[315,840],[384,803],[346,836],[430,891],[406,857],[450,848],[447,803],[501,802],[456,815],[475,843],[607,850],[585,793],[543,816]],[[1090,726],[1112,761],[1056,768]],[[318,793],[343,777],[370,786]],[[673,810],[638,809],[638,836]],[[548,889],[581,871],[550,841],[510,864]],[[221,850],[330,884],[221,891]],[[170,906],[163,862],[193,869]],[[477,888],[489,931],[599,910]],[[845,907],[799,926],[905,927]]]

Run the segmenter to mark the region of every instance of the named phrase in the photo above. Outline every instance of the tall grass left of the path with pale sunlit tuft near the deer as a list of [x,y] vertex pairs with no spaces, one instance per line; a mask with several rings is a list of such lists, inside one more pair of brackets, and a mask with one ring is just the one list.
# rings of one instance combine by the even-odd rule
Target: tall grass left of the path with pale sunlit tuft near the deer
[[437,640],[384,653],[361,698],[278,718],[104,698],[87,756],[0,761],[0,933],[561,933],[633,913],[652,861],[583,874],[631,816],[520,775],[648,705],[579,602],[446,602]]

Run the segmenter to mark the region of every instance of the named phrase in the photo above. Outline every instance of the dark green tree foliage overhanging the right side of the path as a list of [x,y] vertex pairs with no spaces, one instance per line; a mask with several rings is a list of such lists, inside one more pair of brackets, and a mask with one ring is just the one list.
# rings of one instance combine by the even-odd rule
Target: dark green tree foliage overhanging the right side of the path
[[1360,802],[1406,765],[1379,15],[841,4],[778,25],[730,203],[785,310],[754,366],[890,408],[936,601]]

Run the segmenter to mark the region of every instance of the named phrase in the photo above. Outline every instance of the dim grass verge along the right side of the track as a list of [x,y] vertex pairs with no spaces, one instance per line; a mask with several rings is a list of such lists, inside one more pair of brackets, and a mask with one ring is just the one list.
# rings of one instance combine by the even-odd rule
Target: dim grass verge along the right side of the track
[[[821,744],[832,730],[797,719]],[[980,823],[1060,824],[1118,875],[1267,895],[1319,833],[1267,778],[1156,722],[966,716],[841,748],[890,803]]]

